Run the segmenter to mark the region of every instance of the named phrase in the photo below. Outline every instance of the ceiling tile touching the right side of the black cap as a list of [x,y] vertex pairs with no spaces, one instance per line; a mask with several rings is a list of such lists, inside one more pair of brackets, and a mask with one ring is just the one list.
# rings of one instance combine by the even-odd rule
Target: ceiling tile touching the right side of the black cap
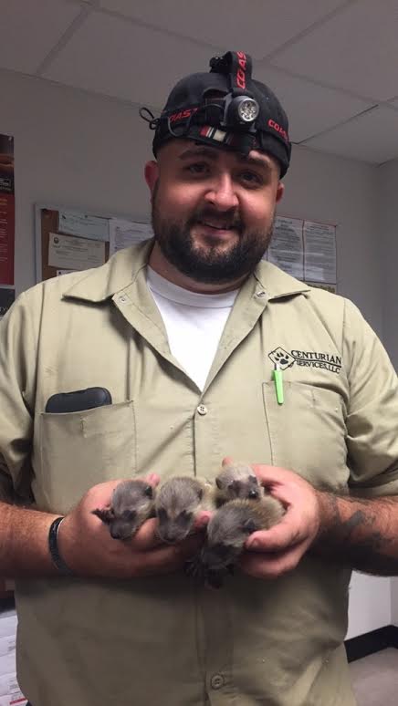
[[351,98],[333,88],[322,88],[272,67],[256,68],[255,76],[275,91],[288,113],[290,140],[293,142],[329,130],[372,106],[370,101]]

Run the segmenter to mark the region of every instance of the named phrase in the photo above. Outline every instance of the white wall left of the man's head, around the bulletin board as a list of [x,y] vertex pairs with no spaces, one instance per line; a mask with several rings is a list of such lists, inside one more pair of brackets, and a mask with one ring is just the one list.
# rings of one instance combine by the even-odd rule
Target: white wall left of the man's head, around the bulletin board
[[35,202],[146,216],[147,124],[131,106],[0,71],[0,132],[15,137],[16,288],[35,284]]

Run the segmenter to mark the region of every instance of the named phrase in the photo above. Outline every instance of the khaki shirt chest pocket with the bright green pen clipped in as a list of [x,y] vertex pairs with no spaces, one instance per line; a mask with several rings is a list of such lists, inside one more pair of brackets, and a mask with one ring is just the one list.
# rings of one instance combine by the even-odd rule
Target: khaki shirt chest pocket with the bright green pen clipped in
[[274,382],[263,384],[272,463],[317,487],[344,490],[349,469],[340,394],[298,382],[283,387],[284,402],[278,404]]

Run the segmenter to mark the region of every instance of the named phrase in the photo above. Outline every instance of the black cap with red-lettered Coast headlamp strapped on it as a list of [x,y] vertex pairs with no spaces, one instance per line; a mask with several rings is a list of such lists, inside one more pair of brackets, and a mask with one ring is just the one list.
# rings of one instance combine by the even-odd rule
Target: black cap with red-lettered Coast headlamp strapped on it
[[273,91],[251,78],[252,61],[244,52],[213,57],[210,72],[191,74],[173,88],[160,118],[147,119],[155,135],[156,157],[162,145],[183,137],[248,154],[265,151],[288,171],[291,145],[288,117]]

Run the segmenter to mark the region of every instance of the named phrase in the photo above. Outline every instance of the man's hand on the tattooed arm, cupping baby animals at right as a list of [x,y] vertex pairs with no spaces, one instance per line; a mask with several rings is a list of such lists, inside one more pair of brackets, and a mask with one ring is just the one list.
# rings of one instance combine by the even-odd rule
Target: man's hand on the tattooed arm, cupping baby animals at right
[[259,483],[286,508],[280,523],[250,535],[239,566],[257,578],[277,578],[294,569],[319,532],[317,491],[297,473],[254,464]]

